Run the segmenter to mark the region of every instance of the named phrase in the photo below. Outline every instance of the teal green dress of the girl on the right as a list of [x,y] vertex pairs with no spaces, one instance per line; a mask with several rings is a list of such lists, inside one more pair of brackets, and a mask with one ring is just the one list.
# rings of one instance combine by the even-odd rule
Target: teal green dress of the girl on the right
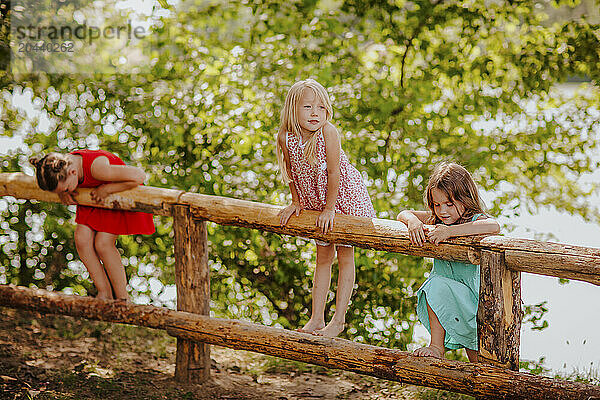
[[[473,216],[475,221],[482,214]],[[433,259],[429,278],[416,295],[417,316],[431,333],[427,303],[446,330],[448,349],[477,350],[477,305],[479,304],[479,265]]]

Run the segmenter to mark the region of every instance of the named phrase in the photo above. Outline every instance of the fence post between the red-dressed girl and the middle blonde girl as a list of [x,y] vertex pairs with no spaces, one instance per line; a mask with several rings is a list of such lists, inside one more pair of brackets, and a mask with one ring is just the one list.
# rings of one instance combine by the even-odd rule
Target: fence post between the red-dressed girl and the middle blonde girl
[[[173,206],[177,310],[210,313],[210,276],[206,221],[192,219],[189,206]],[[210,346],[177,339],[175,379],[201,383],[210,378]]]

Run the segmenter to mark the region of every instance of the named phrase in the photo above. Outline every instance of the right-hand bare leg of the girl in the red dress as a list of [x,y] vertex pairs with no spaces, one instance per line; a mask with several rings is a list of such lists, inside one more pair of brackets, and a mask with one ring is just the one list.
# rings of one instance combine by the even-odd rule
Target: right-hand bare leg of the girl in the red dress
[[94,246],[104,264],[110,283],[118,300],[129,300],[127,294],[127,275],[121,262],[121,254],[116,247],[117,236],[107,232],[96,232]]

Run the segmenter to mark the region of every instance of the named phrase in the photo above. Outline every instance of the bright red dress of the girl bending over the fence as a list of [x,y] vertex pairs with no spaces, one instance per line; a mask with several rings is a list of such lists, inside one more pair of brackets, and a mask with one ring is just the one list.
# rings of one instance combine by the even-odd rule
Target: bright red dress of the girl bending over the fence
[[[104,150],[77,150],[71,154],[80,155],[83,159],[83,182],[77,185],[81,188],[98,187],[104,183],[92,177],[92,162],[96,157],[106,156],[110,165],[125,165],[123,160]],[[75,222],[87,225],[96,232],[107,232],[115,235],[154,233],[152,214],[139,211],[112,210],[107,208],[77,206]]]

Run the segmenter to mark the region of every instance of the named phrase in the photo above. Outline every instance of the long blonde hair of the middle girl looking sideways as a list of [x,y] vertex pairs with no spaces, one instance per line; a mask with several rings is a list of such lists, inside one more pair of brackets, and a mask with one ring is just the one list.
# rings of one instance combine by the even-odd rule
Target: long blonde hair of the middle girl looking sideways
[[[302,133],[300,124],[298,122],[297,105],[300,97],[306,89],[312,89],[315,95],[323,102],[327,111],[326,120],[330,121],[333,118],[333,107],[329,100],[329,94],[327,90],[319,82],[314,79],[306,79],[304,81],[298,81],[292,85],[287,95],[285,96],[285,103],[281,110],[281,123],[279,125],[279,135],[286,134],[288,132],[296,135],[298,140],[302,142]],[[316,132],[315,132],[316,133]],[[310,139],[307,140],[306,146],[304,147],[304,156],[311,164],[317,162],[317,135],[313,134]],[[279,164],[279,171],[284,183],[289,183],[291,180],[290,171],[287,170],[287,165],[283,157],[283,148],[277,140],[277,163]]]

